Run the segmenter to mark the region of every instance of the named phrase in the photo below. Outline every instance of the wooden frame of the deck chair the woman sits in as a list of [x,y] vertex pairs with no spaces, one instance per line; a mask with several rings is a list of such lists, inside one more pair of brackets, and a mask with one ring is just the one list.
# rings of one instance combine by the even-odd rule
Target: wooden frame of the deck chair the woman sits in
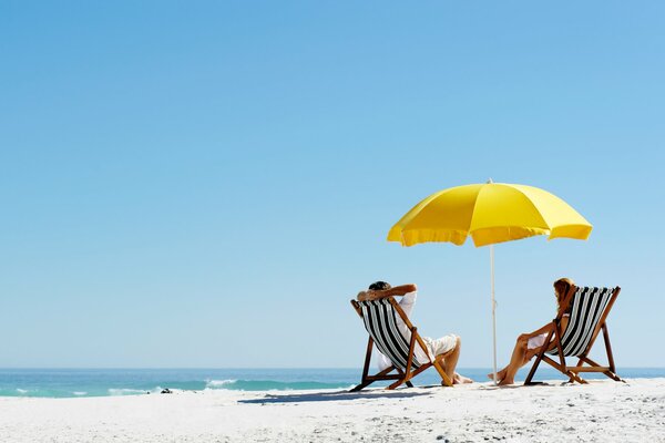
[[[602,311],[602,313],[597,320],[596,326],[593,329],[593,333],[591,334],[589,344],[586,344],[579,352],[573,352],[572,354],[566,354],[563,349],[564,346],[562,344],[562,340],[565,338],[565,332],[566,332],[566,331],[561,330],[561,319],[563,318],[563,315],[566,311],[569,311],[569,308],[573,308],[572,305],[575,301],[575,297],[582,297],[582,295],[592,297],[594,293],[602,295],[603,293],[602,291],[610,291],[610,298],[607,300],[607,303],[606,303],[604,310]],[[553,343],[553,344],[550,346],[549,348],[543,347],[543,349],[539,352],[535,361],[533,362],[533,365],[531,367],[531,371],[529,372],[529,375],[526,377],[526,380],[524,381],[524,384],[525,385],[539,384],[539,382],[533,382],[532,380],[533,380],[533,375],[535,374],[535,371],[538,370],[538,367],[541,363],[541,361],[544,361],[545,363],[550,364],[552,368],[562,372],[564,375],[566,375],[569,378],[569,382],[571,382],[571,383],[572,382],[587,383],[586,380],[584,380],[582,377],[580,377],[581,372],[601,372],[601,373],[607,375],[608,378],[611,378],[612,380],[623,381],[616,374],[616,368],[614,365],[614,357],[612,354],[612,344],[610,343],[610,333],[607,332],[607,323],[606,323],[607,316],[610,315],[610,311],[612,310],[612,306],[616,301],[616,297],[618,296],[620,291],[621,291],[621,288],[618,286],[613,289],[589,288],[589,287],[577,288],[575,286],[571,286],[571,288],[569,289],[569,292],[566,293],[566,296],[564,298],[564,301],[561,303],[561,307],[559,309],[556,318],[554,320],[552,320],[552,326],[553,326],[552,330],[550,331],[550,333],[548,333],[548,338],[545,339],[545,343]],[[574,315],[574,312],[571,312],[571,319],[569,319],[569,328],[572,327],[571,324],[573,321],[573,319],[572,319],[573,315]],[[589,320],[589,321],[593,321],[593,320]],[[583,328],[583,326],[580,324],[577,327],[577,329],[579,328]],[[594,344],[598,333],[601,332],[601,330],[603,331],[603,341],[605,342],[605,352],[607,354],[607,365],[602,365],[589,358],[589,352],[593,348],[593,344]],[[559,362],[556,362],[554,359],[545,356],[545,353],[557,354]],[[567,365],[567,363],[565,361],[566,357],[577,358],[579,359],[577,364],[574,367]]]

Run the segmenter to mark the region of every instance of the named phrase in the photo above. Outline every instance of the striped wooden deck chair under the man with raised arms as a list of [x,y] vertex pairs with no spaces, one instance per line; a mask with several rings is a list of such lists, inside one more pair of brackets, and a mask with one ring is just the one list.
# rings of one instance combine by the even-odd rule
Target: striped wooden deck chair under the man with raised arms
[[[424,371],[429,367],[434,367],[441,375],[442,384],[452,385],[452,381],[443,370],[442,360],[452,350],[446,354],[438,356],[436,359],[428,358],[428,361],[418,361],[416,356],[416,347],[419,346],[427,354],[427,347],[422,338],[418,334],[417,328],[411,324],[407,315],[401,309],[399,303],[392,297],[386,297],[379,300],[356,301],[351,300],[354,309],[360,316],[365,323],[365,329],[369,332],[367,342],[367,353],[365,357],[365,367],[362,369],[362,380],[360,384],[351,390],[351,392],[360,391],[362,388],[378,380],[396,380],[387,389],[395,389],[402,383],[412,388],[410,380]],[[410,331],[410,337],[405,337],[397,327],[397,316],[407,326]],[[372,346],[386,356],[391,367],[378,372],[375,375],[369,375],[369,363],[371,361]],[[391,373],[396,371],[396,373]]]

